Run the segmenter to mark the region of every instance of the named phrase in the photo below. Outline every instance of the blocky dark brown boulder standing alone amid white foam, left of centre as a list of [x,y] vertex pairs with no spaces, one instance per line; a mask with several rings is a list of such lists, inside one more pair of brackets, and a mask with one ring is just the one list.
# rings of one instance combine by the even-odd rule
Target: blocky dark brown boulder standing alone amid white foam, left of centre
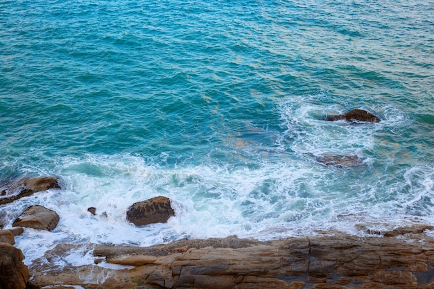
[[137,226],[167,222],[171,216],[175,216],[171,200],[161,196],[134,203],[127,211],[127,220]]

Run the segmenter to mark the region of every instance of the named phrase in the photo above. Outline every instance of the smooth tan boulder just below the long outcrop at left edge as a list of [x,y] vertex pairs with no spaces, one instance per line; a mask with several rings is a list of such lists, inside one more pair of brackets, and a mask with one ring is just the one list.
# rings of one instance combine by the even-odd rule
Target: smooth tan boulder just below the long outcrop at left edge
[[59,220],[59,215],[55,211],[35,205],[21,213],[12,226],[52,231],[58,225]]

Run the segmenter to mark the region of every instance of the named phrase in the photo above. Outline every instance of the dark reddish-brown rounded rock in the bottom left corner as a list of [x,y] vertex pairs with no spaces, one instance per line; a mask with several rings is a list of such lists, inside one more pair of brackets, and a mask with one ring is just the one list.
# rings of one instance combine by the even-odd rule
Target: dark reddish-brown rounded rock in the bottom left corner
[[28,269],[23,263],[24,254],[8,243],[0,243],[0,288],[24,289]]

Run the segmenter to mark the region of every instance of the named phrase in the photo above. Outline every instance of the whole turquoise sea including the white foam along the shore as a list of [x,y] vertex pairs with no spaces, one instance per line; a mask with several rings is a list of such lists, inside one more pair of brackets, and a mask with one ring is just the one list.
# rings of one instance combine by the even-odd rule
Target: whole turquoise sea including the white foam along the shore
[[[0,216],[60,215],[17,237],[27,263],[58,243],[434,225],[433,91],[434,1],[4,0],[0,180],[62,189]],[[356,108],[381,122],[324,121]],[[317,161],[345,155],[363,164]],[[157,195],[175,217],[126,222]]]

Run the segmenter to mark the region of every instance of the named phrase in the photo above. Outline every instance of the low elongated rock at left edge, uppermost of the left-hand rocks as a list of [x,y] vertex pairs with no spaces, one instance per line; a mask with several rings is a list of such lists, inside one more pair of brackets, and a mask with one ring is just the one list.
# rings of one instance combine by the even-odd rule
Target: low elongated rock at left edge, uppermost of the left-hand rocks
[[55,177],[34,177],[14,179],[0,186],[0,204],[8,204],[40,191],[60,189]]

